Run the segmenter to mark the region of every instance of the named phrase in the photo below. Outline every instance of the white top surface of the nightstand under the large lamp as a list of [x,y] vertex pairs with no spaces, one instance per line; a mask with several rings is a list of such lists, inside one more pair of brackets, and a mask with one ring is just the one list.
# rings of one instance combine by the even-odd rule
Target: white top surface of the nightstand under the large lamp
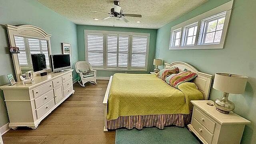
[[222,114],[218,112],[215,106],[209,106],[208,102],[214,104],[212,100],[191,100],[192,104],[203,111],[205,114],[213,118],[220,124],[250,124],[249,120],[246,120],[242,116],[230,112],[229,114]]

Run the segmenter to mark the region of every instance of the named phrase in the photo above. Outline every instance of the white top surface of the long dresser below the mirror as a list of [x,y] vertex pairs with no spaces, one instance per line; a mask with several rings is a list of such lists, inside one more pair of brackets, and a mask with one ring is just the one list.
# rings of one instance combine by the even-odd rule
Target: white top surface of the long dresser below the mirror
[[61,76],[64,76],[65,74],[68,74],[72,72],[73,69],[64,70],[63,72],[50,72],[45,76],[35,76],[34,77],[34,83],[28,83],[28,84],[22,84],[22,81],[16,82],[14,85],[6,84],[4,86],[0,86],[0,89],[30,89],[34,88],[36,86],[40,86],[40,84],[44,84],[46,82],[50,82],[54,80],[55,78],[59,78]]

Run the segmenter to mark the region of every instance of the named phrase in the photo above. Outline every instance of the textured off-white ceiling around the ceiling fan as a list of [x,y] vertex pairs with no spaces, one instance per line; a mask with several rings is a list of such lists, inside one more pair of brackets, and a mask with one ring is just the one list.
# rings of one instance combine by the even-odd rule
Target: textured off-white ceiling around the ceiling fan
[[[113,26],[113,19],[101,20],[110,12],[114,0],[38,0],[75,24]],[[130,22],[115,21],[117,27],[158,29],[207,0],[120,0],[124,14],[142,14],[142,18],[126,17]],[[100,20],[93,20],[98,18]],[[136,23],[140,20],[140,23]]]

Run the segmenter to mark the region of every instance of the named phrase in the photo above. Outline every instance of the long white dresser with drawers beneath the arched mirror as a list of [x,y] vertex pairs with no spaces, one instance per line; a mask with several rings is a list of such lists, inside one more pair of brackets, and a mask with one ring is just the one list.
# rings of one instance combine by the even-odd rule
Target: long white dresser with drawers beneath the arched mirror
[[10,86],[0,86],[9,116],[9,127],[27,126],[36,129],[38,124],[74,94],[72,71],[48,73],[34,77],[33,84],[17,82]]

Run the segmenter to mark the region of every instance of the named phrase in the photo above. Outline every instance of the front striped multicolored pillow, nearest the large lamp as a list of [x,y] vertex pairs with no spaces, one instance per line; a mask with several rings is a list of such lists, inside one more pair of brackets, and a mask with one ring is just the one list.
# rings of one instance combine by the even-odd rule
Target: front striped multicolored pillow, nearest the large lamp
[[170,86],[174,88],[178,88],[179,84],[182,84],[183,82],[188,82],[194,78],[196,78],[197,74],[190,71],[183,71],[178,74],[172,74],[170,76],[167,76],[165,81],[167,84],[170,84]]

